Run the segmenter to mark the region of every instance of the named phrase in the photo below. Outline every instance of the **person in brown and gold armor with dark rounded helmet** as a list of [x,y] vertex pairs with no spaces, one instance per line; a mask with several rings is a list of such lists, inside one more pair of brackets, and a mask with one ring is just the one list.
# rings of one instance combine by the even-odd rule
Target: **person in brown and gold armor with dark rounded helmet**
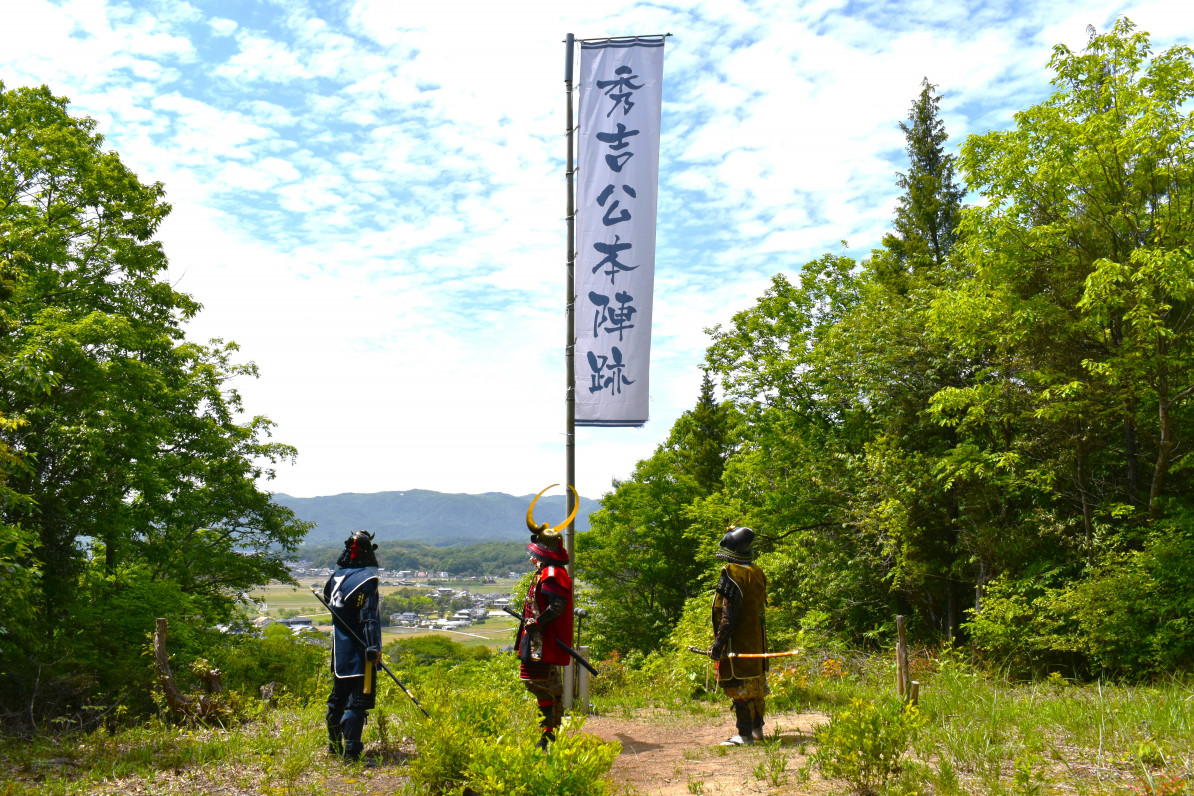
[[767,604],[767,575],[755,566],[750,545],[755,531],[738,526],[721,537],[716,557],[726,562],[713,597],[713,647],[718,685],[733,701],[738,733],[722,746],[741,746],[763,740],[767,659],[734,658],[767,652],[763,609]]

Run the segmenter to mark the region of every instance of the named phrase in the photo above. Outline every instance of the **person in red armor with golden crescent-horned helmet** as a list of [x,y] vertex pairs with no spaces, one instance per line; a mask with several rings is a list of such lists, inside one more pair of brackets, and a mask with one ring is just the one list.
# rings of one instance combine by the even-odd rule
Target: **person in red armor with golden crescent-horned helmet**
[[[572,489],[571,486],[568,488]],[[560,529],[566,527],[577,516],[580,500],[577,499],[572,514],[559,525],[536,525],[535,501],[543,492],[535,495],[527,510],[527,527],[531,533],[527,553],[535,564],[535,576],[523,603],[517,649],[521,662],[518,677],[535,697],[543,715],[540,721],[543,734],[538,740],[538,748],[547,749],[548,742],[555,740],[555,729],[564,718],[560,667],[571,661],[571,656],[556,640],[572,646],[572,578],[566,569],[568,554],[564,549]],[[577,490],[572,489],[572,494],[576,496]]]

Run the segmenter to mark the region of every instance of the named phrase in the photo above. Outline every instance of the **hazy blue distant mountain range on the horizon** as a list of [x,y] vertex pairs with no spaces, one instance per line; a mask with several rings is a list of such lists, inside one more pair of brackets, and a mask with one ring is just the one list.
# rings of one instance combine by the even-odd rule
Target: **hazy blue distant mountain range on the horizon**
[[[307,533],[307,544],[338,544],[352,531],[364,529],[383,541],[435,545],[527,541],[530,538],[527,506],[534,498],[533,494],[516,496],[487,492],[466,495],[429,489],[349,492],[324,498],[273,495],[298,519],[315,523],[315,527]],[[577,531],[589,530],[589,514],[598,508],[599,501],[580,499]],[[566,511],[564,495],[543,495],[535,504],[535,520],[554,525],[564,522]]]

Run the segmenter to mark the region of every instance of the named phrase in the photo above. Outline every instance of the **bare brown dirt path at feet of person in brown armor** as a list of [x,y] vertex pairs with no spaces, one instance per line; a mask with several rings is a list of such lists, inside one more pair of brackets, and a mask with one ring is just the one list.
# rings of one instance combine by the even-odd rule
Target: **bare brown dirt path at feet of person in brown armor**
[[[775,714],[768,716],[768,742],[744,747],[719,746],[733,734],[728,714],[590,716],[585,732],[622,745],[610,776],[644,796],[817,794],[829,790],[826,783],[816,773],[800,782],[796,772],[807,761],[801,748],[811,745],[813,727],[825,721],[818,712]],[[778,743],[771,740],[776,729]]]

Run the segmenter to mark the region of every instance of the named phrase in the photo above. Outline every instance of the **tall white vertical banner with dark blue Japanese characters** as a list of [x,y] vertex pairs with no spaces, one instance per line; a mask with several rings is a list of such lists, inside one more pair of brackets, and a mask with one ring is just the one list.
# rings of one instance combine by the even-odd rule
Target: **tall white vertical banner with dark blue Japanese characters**
[[576,425],[647,421],[664,39],[580,43]]

